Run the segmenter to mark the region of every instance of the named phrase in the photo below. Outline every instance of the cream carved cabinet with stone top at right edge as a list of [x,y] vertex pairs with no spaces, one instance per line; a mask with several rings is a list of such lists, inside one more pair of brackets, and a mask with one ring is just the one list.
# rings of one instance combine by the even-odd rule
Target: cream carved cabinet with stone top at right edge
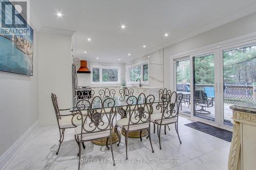
[[228,157],[229,170],[256,167],[256,102],[230,106],[233,135]]

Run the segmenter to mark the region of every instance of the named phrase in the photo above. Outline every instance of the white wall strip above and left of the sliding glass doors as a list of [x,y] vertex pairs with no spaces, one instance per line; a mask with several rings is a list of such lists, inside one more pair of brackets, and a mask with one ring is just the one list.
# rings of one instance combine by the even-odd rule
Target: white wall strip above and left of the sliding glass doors
[[256,32],[256,13],[164,48],[164,87],[173,89],[171,57],[206,45]]

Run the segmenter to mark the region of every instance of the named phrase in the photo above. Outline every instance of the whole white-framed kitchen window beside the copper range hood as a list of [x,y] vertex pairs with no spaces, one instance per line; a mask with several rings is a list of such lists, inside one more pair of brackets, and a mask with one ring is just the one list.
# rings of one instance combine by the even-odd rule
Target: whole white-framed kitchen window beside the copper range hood
[[119,84],[120,67],[91,66],[91,84]]

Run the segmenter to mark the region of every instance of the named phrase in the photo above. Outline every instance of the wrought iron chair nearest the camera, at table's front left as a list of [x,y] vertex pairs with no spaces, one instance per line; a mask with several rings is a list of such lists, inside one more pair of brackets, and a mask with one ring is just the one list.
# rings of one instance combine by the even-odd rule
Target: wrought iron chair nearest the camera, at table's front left
[[[81,121],[81,125],[75,128],[75,140],[78,144],[79,148],[79,165],[78,169],[80,169],[80,160],[81,160],[81,147],[85,148],[82,143],[84,141],[92,141],[102,138],[106,139],[106,148],[111,149],[113,165],[115,166],[115,160],[113,155],[113,148],[112,148],[112,126],[111,126],[111,119],[112,113],[115,106],[115,100],[112,98],[102,99],[99,96],[96,96],[89,100],[81,100],[76,104],[77,113],[82,115],[82,110],[87,110],[88,114],[83,116]],[[110,108],[111,111],[107,112],[105,109]],[[88,120],[88,123],[86,123]],[[110,143],[109,143],[110,140]]]

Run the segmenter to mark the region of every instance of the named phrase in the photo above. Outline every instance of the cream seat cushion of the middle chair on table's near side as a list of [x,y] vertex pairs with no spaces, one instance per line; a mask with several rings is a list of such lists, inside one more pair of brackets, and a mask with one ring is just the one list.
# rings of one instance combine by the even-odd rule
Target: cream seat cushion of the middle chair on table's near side
[[[137,122],[138,119],[135,119],[134,117],[131,118],[131,121],[133,123]],[[140,129],[146,129],[150,127],[150,123],[143,123],[140,122],[141,124],[134,124],[132,125],[130,122],[130,127],[129,127],[129,131],[136,131],[136,130],[140,130]],[[116,125],[119,126],[120,128],[124,128],[125,130],[128,129],[128,124],[129,124],[129,118],[121,118],[119,120],[117,120]]]

